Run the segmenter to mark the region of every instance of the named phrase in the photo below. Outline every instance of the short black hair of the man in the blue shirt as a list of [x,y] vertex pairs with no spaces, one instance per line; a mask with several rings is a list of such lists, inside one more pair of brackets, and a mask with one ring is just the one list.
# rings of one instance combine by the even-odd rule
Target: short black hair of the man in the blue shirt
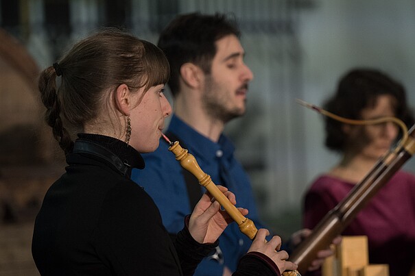
[[169,60],[171,71],[168,84],[173,96],[180,90],[182,64],[192,62],[209,74],[217,50],[215,42],[231,34],[240,36],[235,18],[230,19],[225,14],[182,14],[165,27],[158,39],[158,47]]

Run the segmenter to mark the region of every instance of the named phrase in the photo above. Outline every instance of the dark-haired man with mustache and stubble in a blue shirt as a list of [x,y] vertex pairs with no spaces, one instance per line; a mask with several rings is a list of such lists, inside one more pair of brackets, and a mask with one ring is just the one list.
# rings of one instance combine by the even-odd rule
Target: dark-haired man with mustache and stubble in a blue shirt
[[[248,83],[253,79],[239,35],[223,14],[184,14],[163,30],[158,47],[169,60],[168,84],[174,96],[166,134],[195,156],[215,184],[234,192],[237,206],[247,208],[248,217],[263,228],[248,175],[235,159],[232,142],[222,133],[228,121],[245,113]],[[202,195],[202,187],[167,148],[161,142],[154,153],[143,155],[145,170],[134,170],[132,179],[152,196],[163,224],[175,234]],[[230,275],[250,244],[236,223],[228,225],[220,236],[220,247],[202,261],[195,275]]]

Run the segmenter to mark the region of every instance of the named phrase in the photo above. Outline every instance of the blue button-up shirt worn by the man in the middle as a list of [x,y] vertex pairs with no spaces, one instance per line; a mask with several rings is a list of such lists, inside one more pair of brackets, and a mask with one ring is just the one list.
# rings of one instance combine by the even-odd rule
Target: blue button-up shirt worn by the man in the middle
[[[202,136],[177,116],[171,118],[169,132],[183,142],[189,153],[194,155],[200,168],[211,176],[213,183],[226,186],[236,196],[237,207],[247,208],[250,218],[257,228],[262,228],[252,195],[248,175],[235,159],[235,147],[221,135],[218,142]],[[170,233],[177,233],[183,227],[183,219],[192,212],[189,206],[187,186],[182,175],[182,167],[174,153],[168,151],[164,140],[154,153],[143,154],[145,169],[132,171],[132,179],[150,194],[160,209],[163,224]],[[201,191],[204,188],[200,186]],[[195,275],[222,275],[224,266],[235,271],[239,258],[250,247],[251,241],[241,231],[237,223],[231,223],[220,236],[220,249],[223,263],[215,258],[205,258],[199,264]],[[217,258],[216,258],[217,259]]]

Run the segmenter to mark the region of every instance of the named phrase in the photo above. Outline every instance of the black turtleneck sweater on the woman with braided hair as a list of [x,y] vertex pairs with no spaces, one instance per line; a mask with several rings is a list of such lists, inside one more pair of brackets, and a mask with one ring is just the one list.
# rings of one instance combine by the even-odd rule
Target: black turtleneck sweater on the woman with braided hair
[[191,275],[217,245],[195,242],[187,228],[171,241],[154,201],[130,180],[144,162],[125,142],[80,134],[67,163],[36,217],[41,275]]

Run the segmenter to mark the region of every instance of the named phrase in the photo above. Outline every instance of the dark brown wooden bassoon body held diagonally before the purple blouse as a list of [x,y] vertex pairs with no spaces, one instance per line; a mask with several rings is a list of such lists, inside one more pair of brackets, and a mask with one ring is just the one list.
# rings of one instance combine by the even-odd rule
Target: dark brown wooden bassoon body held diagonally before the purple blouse
[[329,247],[333,238],[340,235],[366,203],[390,180],[415,153],[415,125],[407,131],[402,145],[396,146],[380,158],[366,177],[314,227],[310,236],[301,242],[289,260],[298,264],[298,271],[305,273],[317,252]]

